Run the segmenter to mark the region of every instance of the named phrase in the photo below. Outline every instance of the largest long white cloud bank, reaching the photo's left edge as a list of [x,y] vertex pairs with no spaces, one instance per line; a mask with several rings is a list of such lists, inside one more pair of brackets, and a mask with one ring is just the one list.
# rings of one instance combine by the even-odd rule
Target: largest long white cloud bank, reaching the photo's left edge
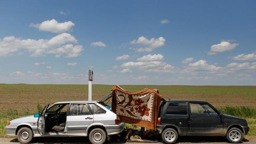
[[77,43],[77,40],[69,33],[58,34],[49,40],[4,37],[0,39],[0,56],[9,56],[21,49],[31,52],[31,56],[34,57],[45,56],[45,54],[56,54],[56,57],[66,54],[67,58],[81,55],[83,46],[71,43]]

